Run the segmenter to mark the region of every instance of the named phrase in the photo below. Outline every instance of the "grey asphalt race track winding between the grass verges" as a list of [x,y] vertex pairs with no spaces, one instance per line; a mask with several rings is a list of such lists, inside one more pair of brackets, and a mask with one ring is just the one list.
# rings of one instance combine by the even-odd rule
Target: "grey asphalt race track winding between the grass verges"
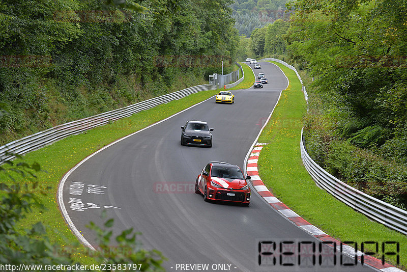
[[[232,91],[232,105],[216,104],[211,98],[104,149],[73,171],[65,182],[63,200],[83,237],[96,246],[95,235],[85,226],[90,221],[101,225],[100,214],[106,210],[114,219],[115,235],[128,228],[141,232],[138,238],[144,248],[157,249],[168,258],[167,271],[181,271],[180,264],[209,264],[209,271],[371,271],[360,263],[341,266],[339,258],[332,267],[282,266],[278,260],[275,266],[258,266],[259,239],[316,240],[253,188],[249,207],[207,203],[194,193],[195,179],[208,161],[243,168],[247,152],[286,88],[287,79],[277,66],[260,63],[255,74],[264,72],[269,81],[263,89]],[[215,129],[212,148],[180,145],[180,126],[187,120],[207,121]]]

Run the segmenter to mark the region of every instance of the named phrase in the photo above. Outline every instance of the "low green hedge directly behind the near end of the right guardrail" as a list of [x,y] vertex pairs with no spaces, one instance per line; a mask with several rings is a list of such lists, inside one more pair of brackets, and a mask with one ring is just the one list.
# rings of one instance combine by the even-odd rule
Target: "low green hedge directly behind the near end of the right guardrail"
[[327,172],[368,195],[406,209],[406,165],[384,159],[348,141],[324,142],[319,134],[308,130],[306,135],[308,153]]

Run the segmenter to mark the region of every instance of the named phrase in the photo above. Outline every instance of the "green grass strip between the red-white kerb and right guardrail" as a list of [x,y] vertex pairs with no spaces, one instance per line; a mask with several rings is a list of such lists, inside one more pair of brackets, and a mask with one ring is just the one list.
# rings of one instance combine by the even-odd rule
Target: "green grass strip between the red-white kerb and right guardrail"
[[[382,224],[371,222],[363,214],[318,188],[304,168],[300,138],[306,102],[301,83],[294,71],[275,64],[288,77],[289,87],[282,92],[270,122],[258,139],[260,143],[269,143],[264,146],[258,160],[261,179],[280,201],[305,220],[336,239],[357,242],[358,250],[364,241],[378,242],[379,253],[382,252],[382,242],[399,242],[398,267],[405,269],[407,238]],[[373,248],[369,249],[375,251]],[[389,247],[387,252],[390,251],[396,251],[396,248]],[[375,257],[381,258],[382,254]],[[395,256],[386,256],[386,261],[396,265]]]

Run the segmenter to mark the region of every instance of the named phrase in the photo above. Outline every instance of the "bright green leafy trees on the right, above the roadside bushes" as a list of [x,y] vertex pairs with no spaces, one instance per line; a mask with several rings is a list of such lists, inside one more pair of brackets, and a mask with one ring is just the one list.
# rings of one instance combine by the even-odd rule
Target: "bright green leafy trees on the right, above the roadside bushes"
[[[360,146],[384,144],[394,137],[389,129],[405,121],[385,102],[403,96],[407,86],[401,57],[407,41],[405,6],[401,0],[295,3],[289,50],[317,76],[315,88],[342,95],[359,122],[344,121],[338,129]],[[368,136],[364,128],[372,126],[378,126],[377,132]]]

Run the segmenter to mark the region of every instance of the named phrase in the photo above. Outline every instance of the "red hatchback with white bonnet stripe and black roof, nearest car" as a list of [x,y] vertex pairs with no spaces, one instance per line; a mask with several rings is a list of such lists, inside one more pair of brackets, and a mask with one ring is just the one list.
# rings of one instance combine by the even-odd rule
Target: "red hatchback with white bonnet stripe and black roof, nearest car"
[[210,161],[202,169],[195,182],[195,193],[202,194],[203,200],[221,200],[250,204],[250,187],[242,170],[221,161]]

